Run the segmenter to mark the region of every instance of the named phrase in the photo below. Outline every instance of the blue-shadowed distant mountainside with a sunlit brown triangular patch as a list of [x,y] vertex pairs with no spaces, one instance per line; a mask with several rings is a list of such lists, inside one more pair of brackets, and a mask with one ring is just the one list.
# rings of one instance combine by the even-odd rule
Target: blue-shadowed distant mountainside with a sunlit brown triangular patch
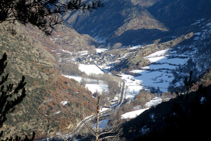
[[99,42],[114,45],[152,43],[159,38],[187,34],[191,24],[210,18],[210,0],[105,0],[91,13],[65,15],[68,26]]

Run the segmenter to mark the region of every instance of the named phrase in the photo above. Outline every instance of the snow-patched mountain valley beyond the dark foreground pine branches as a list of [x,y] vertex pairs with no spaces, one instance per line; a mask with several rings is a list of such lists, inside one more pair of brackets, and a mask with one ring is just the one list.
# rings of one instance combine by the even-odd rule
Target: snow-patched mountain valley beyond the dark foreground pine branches
[[[169,137],[176,122],[178,129],[189,119],[188,124],[196,123],[199,115],[191,112],[206,116],[211,1],[102,2],[97,10],[63,14],[51,36],[32,25],[0,24],[0,55],[8,55],[9,81],[17,84],[24,75],[27,82],[26,98],[1,128],[5,135],[35,131],[37,140],[94,139],[82,123],[96,126],[97,96],[102,131],[121,124],[119,140]],[[190,87],[186,78],[193,81]],[[174,118],[183,116],[184,122]]]

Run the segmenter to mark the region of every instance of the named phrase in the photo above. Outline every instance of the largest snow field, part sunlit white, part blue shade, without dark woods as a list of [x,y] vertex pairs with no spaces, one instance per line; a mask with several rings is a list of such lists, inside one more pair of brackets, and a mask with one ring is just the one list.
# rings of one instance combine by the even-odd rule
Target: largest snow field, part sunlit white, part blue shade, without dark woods
[[126,98],[133,98],[141,89],[151,89],[152,87],[161,92],[168,91],[170,82],[174,79],[172,71],[184,65],[188,60],[189,54],[179,54],[171,49],[157,51],[145,57],[151,64],[141,70],[132,70],[139,76],[121,74],[127,86]]

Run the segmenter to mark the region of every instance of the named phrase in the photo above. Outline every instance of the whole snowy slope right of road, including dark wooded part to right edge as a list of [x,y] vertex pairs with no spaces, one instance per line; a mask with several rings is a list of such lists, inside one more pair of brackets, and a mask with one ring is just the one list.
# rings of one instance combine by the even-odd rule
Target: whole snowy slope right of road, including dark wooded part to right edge
[[131,71],[139,76],[121,74],[128,86],[127,97],[132,98],[141,89],[166,92],[169,87],[182,86],[191,70],[197,78],[211,66],[211,21],[198,20],[196,24],[201,29],[194,33],[191,42],[145,56],[151,64]]

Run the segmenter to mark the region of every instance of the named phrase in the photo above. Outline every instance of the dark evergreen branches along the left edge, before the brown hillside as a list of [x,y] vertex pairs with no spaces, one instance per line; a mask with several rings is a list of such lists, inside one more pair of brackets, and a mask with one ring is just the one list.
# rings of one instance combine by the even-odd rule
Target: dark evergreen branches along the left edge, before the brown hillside
[[[7,55],[6,53],[0,59],[0,128],[3,123],[7,120],[7,114],[15,110],[15,106],[21,103],[26,96],[25,90],[25,77],[23,76],[21,81],[15,86],[14,84],[7,84],[7,79],[9,74],[4,74],[5,68],[7,66]],[[0,140],[2,140],[3,131],[0,132]],[[6,140],[33,140],[35,133],[33,132],[32,138],[25,136],[24,139],[16,136],[15,139],[7,138]]]

